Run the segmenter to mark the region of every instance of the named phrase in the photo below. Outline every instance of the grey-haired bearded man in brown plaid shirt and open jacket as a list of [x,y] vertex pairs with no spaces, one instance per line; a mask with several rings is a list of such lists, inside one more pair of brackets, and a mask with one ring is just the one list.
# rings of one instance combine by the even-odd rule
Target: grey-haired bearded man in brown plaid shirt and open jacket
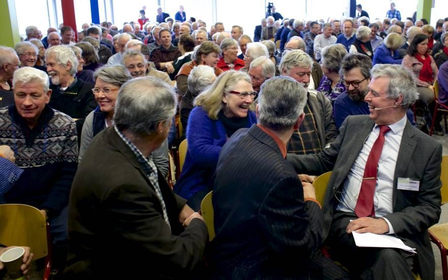
[[297,154],[318,153],[338,135],[330,101],[322,92],[308,88],[312,66],[313,60],[302,50],[286,52],[279,65],[282,76],[295,79],[308,91],[303,125],[294,131],[288,145],[288,151]]

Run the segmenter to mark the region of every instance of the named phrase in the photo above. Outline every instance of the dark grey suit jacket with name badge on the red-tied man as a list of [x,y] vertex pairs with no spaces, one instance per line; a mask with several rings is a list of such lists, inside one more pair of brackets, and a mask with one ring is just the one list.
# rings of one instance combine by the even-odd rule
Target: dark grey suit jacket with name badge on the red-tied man
[[[320,174],[333,170],[325,195],[324,238],[329,234],[333,211],[348,172],[361,151],[375,123],[368,115],[348,116],[331,146],[319,154],[288,154],[287,159],[298,173]],[[386,215],[397,236],[417,248],[423,279],[434,279],[434,256],[427,229],[440,216],[440,164],[442,146],[412,127],[407,121],[398,152],[393,184],[393,213]],[[397,178],[417,178],[420,191],[397,189]]]

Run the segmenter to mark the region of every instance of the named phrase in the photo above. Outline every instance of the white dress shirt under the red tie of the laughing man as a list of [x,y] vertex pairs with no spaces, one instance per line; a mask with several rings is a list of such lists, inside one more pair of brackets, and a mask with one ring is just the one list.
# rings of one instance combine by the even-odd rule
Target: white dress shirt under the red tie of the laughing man
[[[393,212],[392,194],[395,188],[394,174],[397,164],[398,151],[400,150],[401,137],[406,126],[406,115],[399,121],[389,125],[391,131],[385,134],[385,142],[378,161],[378,173],[376,176],[375,192],[373,195],[373,207],[375,217],[383,217]],[[375,125],[372,132],[367,136],[364,146],[358,154],[358,158],[350,169],[344,181],[342,191],[336,194],[340,201],[337,210],[344,212],[355,212],[358,195],[361,190],[362,178],[366,167],[370,150],[379,135],[379,127]],[[402,163],[404,164],[404,163]],[[387,219],[389,233],[394,233],[392,225]]]

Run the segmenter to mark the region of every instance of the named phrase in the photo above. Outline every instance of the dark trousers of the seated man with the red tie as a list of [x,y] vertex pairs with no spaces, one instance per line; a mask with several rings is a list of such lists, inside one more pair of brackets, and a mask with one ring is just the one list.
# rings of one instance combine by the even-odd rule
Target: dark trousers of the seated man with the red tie
[[414,254],[395,248],[358,247],[346,233],[355,213],[336,211],[327,239],[332,258],[341,262],[354,279],[413,279]]

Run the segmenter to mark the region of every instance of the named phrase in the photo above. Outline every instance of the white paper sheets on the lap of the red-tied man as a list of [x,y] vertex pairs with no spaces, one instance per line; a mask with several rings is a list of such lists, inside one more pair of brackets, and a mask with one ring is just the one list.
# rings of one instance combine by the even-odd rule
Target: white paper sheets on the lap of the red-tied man
[[401,250],[415,253],[415,248],[406,246],[400,238],[388,234],[357,233],[352,232],[355,243],[358,247],[380,247],[399,248]]

